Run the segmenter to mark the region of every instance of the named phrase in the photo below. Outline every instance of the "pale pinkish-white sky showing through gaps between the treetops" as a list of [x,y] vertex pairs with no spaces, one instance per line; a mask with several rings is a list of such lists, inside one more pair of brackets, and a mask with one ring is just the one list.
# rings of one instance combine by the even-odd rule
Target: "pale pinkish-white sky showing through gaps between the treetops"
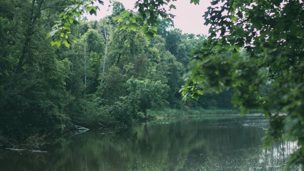
[[[126,9],[133,9],[135,0],[118,0]],[[190,0],[177,0],[171,2],[176,6],[176,9],[171,9],[169,13],[175,15],[173,21],[175,28],[181,29],[183,33],[193,34],[208,34],[208,27],[203,25],[204,12],[210,6],[210,0],[201,0],[199,5],[190,4]],[[171,4],[169,3],[169,4]],[[104,0],[104,5],[99,5],[100,11],[97,11],[97,16],[87,15],[89,20],[99,20],[107,15],[110,15],[112,8],[108,7],[109,1]]]

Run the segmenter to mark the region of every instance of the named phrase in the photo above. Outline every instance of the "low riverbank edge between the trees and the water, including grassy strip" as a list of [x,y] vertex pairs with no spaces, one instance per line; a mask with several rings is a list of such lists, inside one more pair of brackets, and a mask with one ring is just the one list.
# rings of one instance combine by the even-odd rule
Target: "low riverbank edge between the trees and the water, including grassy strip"
[[[156,123],[156,120],[161,120],[161,122],[164,122],[164,119],[170,119],[170,118],[184,118],[184,117],[191,117],[191,116],[207,116],[209,115],[208,120],[218,120],[218,119],[228,119],[228,118],[236,118],[237,115],[231,115],[231,114],[239,114],[240,110],[238,109],[203,109],[203,108],[194,108],[194,109],[170,109],[170,108],[165,108],[162,110],[151,110],[149,109],[147,111],[148,117],[146,119],[143,119],[141,121],[136,122],[135,124],[138,124],[140,122],[151,122],[147,120],[154,120],[152,121],[153,123]],[[258,111],[254,111],[252,113],[258,113]],[[225,115],[223,117],[222,115]],[[75,125],[74,125],[75,126]],[[75,134],[80,134],[82,131],[78,132],[77,129],[73,129],[74,126],[72,124],[67,124],[67,128],[65,133],[63,134],[33,134],[33,135],[28,135],[28,136],[23,136],[22,139],[18,137],[10,137],[10,136],[5,136],[5,135],[0,135],[0,147],[1,146],[6,146],[10,147],[13,145],[20,145],[23,147],[31,147],[34,149],[39,149],[40,147],[44,146],[44,144],[48,143],[48,139],[60,139],[62,137],[70,137],[73,135],[73,132],[76,131]],[[118,125],[91,125],[87,126],[87,128],[90,128],[91,130],[100,130],[100,129],[114,129],[114,130],[120,130],[122,128],[126,128],[125,126],[118,126]],[[69,135],[71,134],[71,135]]]

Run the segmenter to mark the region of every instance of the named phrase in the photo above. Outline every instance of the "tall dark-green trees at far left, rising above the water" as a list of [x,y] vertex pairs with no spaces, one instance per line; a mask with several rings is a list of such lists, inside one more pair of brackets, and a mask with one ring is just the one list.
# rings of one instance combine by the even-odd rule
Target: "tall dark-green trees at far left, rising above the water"
[[[62,4],[67,2],[60,0]],[[1,7],[11,7],[11,12],[0,16],[3,32],[0,42],[5,49],[0,59],[5,64],[0,68],[3,134],[24,137],[31,133],[60,133],[66,127],[68,116],[64,108],[70,96],[65,85],[70,62],[57,59],[56,49],[44,38],[53,18],[63,10],[56,6],[58,3],[58,0],[0,2]]]

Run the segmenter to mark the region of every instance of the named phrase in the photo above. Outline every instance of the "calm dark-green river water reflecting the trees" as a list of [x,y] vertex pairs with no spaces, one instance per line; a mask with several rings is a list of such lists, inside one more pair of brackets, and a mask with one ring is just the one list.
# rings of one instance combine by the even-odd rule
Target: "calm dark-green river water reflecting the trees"
[[[42,151],[0,150],[1,171],[283,171],[292,142],[262,147],[267,120],[205,116],[89,131]],[[301,168],[294,170],[300,171]]]

